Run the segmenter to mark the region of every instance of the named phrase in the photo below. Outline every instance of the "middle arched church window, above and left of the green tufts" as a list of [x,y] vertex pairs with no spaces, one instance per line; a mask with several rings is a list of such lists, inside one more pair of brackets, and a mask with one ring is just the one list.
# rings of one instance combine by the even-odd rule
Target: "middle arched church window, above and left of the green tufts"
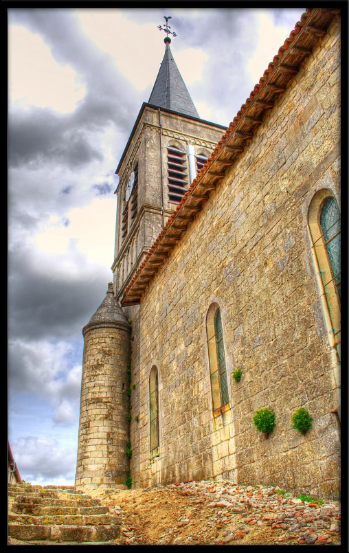
[[212,304],[206,319],[213,410],[229,405],[221,310]]

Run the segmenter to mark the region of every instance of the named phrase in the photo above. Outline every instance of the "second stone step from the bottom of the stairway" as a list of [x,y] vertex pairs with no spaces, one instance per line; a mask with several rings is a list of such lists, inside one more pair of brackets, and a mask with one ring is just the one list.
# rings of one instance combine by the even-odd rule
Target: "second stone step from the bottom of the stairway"
[[121,524],[122,519],[117,515],[8,515],[10,523],[34,524],[36,526],[113,526]]

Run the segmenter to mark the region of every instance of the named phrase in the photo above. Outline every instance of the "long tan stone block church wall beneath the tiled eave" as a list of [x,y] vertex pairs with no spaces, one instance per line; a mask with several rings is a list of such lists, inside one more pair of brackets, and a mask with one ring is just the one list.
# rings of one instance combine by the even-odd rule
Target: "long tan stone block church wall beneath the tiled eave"
[[[339,373],[306,223],[311,197],[339,203],[339,21],[315,47],[170,254],[133,320],[136,486],[207,477],[339,491]],[[214,418],[205,319],[221,307],[231,409]],[[159,371],[160,455],[149,453],[149,374]],[[232,372],[240,368],[240,383]],[[306,435],[291,415],[313,417]],[[265,439],[256,409],[275,412]]]

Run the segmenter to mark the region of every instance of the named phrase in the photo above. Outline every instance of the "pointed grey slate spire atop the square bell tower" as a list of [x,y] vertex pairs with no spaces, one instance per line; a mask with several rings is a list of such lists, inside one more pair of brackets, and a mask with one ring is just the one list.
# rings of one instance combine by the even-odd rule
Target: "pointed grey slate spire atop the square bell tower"
[[190,98],[190,93],[179,69],[173,59],[170,49],[169,39],[166,41],[164,59],[162,60],[157,80],[155,81],[153,91],[150,94],[149,104],[161,108],[178,111],[192,117],[199,117],[199,113]]

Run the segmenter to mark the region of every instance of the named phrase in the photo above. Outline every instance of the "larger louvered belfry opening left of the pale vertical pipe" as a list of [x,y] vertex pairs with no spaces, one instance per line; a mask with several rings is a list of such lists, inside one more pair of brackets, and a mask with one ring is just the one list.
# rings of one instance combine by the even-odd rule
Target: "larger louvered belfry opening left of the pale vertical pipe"
[[168,200],[180,203],[188,188],[187,155],[175,146],[168,146]]

